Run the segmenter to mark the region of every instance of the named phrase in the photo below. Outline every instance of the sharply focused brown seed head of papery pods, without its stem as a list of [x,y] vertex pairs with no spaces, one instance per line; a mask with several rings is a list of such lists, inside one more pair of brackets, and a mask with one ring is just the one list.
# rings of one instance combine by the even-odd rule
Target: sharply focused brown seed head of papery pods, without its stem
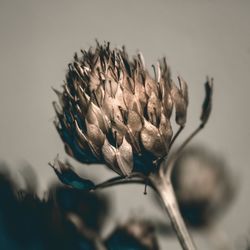
[[177,87],[165,59],[151,77],[143,56],[130,59],[109,43],[82,51],[69,64],[63,92],[54,102],[56,128],[66,152],[82,163],[105,163],[122,176],[149,174],[167,155],[176,123],[184,126],[187,84]]

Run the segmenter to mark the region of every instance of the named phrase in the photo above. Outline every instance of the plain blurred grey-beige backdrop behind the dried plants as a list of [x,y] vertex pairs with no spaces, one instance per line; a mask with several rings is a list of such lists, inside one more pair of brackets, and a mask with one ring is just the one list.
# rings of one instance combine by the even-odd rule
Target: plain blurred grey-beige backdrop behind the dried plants
[[[148,67],[166,56],[173,77],[180,74],[189,83],[188,124],[180,139],[198,124],[205,76],[215,79],[213,113],[195,141],[224,155],[239,180],[238,197],[219,226],[230,240],[244,239],[250,225],[249,13],[248,0],[1,0],[0,158],[17,176],[20,163],[34,166],[41,193],[55,179],[47,163],[57,153],[66,155],[52,124],[51,86],[62,84],[73,53],[94,45],[95,38],[124,44],[131,55],[139,49]],[[102,166],[72,163],[79,173],[88,168],[102,179],[113,176]],[[131,214],[167,218],[142,186],[105,192],[114,197],[113,223]],[[207,235],[194,237],[200,249],[214,248]],[[161,245],[180,248],[175,238],[161,238]]]

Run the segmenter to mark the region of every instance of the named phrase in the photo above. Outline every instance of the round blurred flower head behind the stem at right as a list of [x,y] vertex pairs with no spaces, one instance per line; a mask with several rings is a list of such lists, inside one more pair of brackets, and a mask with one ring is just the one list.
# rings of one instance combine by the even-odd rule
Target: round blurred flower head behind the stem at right
[[185,220],[195,228],[218,222],[236,194],[236,176],[208,147],[188,147],[173,171],[173,186]]

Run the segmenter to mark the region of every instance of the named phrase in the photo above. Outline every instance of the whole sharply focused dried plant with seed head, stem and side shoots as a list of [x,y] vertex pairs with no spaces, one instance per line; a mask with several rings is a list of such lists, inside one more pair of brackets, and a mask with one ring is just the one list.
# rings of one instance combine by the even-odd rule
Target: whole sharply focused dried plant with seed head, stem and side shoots
[[[68,163],[50,164],[59,179],[80,189],[97,189],[123,183],[143,183],[161,197],[183,249],[195,245],[179,213],[171,184],[175,160],[185,145],[206,124],[211,111],[212,80],[205,84],[201,123],[170,155],[170,149],[186,123],[188,88],[178,77],[171,79],[166,60],[153,67],[151,77],[141,53],[130,59],[125,48],[110,44],[82,51],[69,64],[63,92],[55,90],[55,126],[66,152],[85,164],[105,164],[119,176],[95,185],[79,177]],[[175,107],[179,125],[173,134],[170,118]]]

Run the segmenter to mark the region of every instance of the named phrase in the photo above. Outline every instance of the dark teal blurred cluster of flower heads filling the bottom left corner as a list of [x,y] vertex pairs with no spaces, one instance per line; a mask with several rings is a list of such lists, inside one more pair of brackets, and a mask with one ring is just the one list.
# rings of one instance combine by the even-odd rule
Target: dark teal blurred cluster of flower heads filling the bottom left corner
[[103,239],[111,197],[53,184],[40,199],[36,175],[22,168],[24,188],[0,164],[0,249],[157,250],[153,226],[130,220]]

